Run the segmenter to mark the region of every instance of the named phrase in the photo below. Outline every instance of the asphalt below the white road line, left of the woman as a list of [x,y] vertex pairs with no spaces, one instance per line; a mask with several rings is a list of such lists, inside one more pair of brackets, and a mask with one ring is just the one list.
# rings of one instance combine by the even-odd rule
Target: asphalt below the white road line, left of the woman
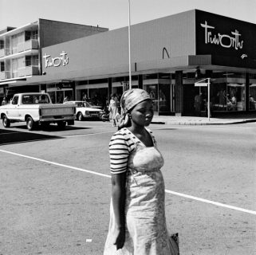
[[103,253],[109,179],[14,155],[1,176],[3,254]]

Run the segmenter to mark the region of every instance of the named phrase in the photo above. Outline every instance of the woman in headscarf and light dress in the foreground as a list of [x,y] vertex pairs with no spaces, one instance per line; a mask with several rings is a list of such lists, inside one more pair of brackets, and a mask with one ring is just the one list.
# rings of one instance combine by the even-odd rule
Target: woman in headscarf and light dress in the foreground
[[121,107],[120,130],[109,143],[112,199],[104,255],[176,255],[165,219],[163,157],[145,128],[152,121],[152,100],[148,92],[130,89]]

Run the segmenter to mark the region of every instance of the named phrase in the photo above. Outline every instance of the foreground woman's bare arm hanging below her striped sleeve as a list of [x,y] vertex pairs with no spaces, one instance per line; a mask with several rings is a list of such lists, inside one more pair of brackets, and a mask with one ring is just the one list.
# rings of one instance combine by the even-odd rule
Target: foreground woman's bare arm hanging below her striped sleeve
[[112,205],[116,218],[116,249],[122,249],[125,241],[125,183],[126,172],[112,175]]

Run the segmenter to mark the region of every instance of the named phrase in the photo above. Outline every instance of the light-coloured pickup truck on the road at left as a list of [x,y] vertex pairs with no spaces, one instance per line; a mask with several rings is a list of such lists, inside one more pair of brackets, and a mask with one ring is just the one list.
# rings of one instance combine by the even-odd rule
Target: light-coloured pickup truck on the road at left
[[66,124],[74,124],[76,108],[73,104],[52,104],[47,93],[19,93],[10,104],[0,107],[0,117],[5,128],[10,123],[25,121],[28,130],[37,128],[38,124],[47,128],[51,123],[64,129]]

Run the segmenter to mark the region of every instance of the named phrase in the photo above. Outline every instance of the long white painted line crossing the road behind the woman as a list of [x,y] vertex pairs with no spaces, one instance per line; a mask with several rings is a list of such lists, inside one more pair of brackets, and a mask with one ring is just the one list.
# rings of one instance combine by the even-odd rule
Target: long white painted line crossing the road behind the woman
[[[34,158],[34,157],[31,157],[31,156],[27,156],[27,155],[22,155],[22,154],[11,152],[11,151],[5,151],[5,150],[0,150],[0,151],[3,152],[3,153],[16,155],[16,156],[23,157],[23,158],[26,158],[26,159],[33,159],[33,160],[41,161],[41,162],[44,162],[44,163],[49,163],[49,164],[52,164],[52,165],[55,165],[55,166],[58,166],[58,167],[65,167],[65,168],[69,168],[69,169],[73,169],[73,170],[77,170],[77,171],[83,171],[83,172],[93,174],[93,175],[99,175],[99,176],[111,178],[110,175],[104,175],[104,174],[98,173],[96,171],[90,171],[90,170],[86,170],[86,169],[83,169],[83,168],[80,168],[80,167],[71,167],[71,166],[68,166],[68,165],[65,165],[65,164],[55,163],[53,161],[49,161],[49,160],[45,160],[45,159],[38,159],[38,158]],[[256,215],[256,211],[254,211],[254,210],[247,210],[247,209],[237,207],[237,206],[229,206],[229,205],[223,204],[221,202],[215,202],[215,201],[207,200],[207,199],[204,199],[204,198],[198,198],[198,197],[191,196],[189,194],[183,194],[183,193],[175,192],[175,191],[172,191],[172,190],[165,190],[165,192],[168,193],[168,194],[175,194],[179,197],[190,198],[190,199],[193,199],[193,200],[196,200],[196,201],[199,201],[199,202],[206,202],[208,204],[212,204],[212,205],[215,205],[215,206],[221,206],[221,207],[225,207],[225,208],[232,209],[232,210],[238,210],[238,211],[241,211],[243,213],[255,214]]]

